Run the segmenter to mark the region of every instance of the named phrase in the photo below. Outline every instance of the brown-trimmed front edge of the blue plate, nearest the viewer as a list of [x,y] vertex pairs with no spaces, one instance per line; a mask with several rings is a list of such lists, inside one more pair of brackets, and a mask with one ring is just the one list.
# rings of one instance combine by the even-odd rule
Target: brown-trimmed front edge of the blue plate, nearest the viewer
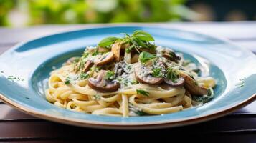
[[22,107],[22,105],[11,101],[11,99],[6,98],[3,94],[0,94],[0,99],[3,100],[4,103],[11,105],[15,109],[18,109],[21,112],[30,114],[34,117],[39,117],[41,119],[47,119],[52,122],[58,122],[62,124],[75,125],[79,127],[91,127],[95,129],[160,129],[167,127],[179,127],[188,124],[196,124],[199,122],[206,122],[212,119],[216,119],[218,117],[222,117],[225,114],[233,112],[236,109],[240,109],[245,107],[247,104],[254,102],[256,100],[256,93],[252,94],[249,98],[240,102],[240,104],[236,104],[233,107],[228,109],[220,110],[219,112],[215,112],[214,114],[207,114],[203,116],[194,116],[189,119],[183,119],[179,121],[169,122],[146,122],[146,123],[135,123],[135,124],[120,124],[120,123],[109,123],[109,122],[92,122],[85,119],[69,119],[67,117],[58,117],[52,116],[49,114],[42,114],[40,112],[33,111],[27,107]]

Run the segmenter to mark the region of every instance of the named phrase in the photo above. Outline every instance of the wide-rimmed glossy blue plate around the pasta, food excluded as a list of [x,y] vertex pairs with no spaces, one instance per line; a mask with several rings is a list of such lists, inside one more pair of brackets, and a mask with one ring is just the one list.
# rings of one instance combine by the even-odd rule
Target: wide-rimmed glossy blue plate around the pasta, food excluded
[[[82,54],[105,36],[148,31],[156,45],[184,53],[217,79],[211,102],[173,114],[145,117],[108,117],[72,112],[47,102],[44,89],[52,66]],[[194,124],[221,117],[255,99],[256,58],[229,41],[177,29],[151,26],[110,26],[69,31],[27,41],[0,56],[0,97],[16,109],[64,124],[107,129],[152,129]]]

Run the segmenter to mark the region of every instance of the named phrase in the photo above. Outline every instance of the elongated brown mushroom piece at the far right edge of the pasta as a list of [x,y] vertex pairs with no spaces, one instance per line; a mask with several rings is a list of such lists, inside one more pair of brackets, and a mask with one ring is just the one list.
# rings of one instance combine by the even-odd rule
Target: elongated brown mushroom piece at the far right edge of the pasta
[[183,71],[179,71],[179,75],[181,77],[184,77],[185,79],[185,88],[189,90],[189,92],[192,95],[205,95],[208,92],[208,89],[205,87],[199,86],[199,84],[194,80],[192,77],[190,77],[188,74],[186,74]]

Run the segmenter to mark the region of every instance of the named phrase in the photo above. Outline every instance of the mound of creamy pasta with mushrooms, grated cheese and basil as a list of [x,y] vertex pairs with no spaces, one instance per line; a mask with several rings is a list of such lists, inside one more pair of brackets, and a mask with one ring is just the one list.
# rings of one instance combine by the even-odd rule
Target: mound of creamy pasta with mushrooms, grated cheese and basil
[[88,114],[169,114],[209,102],[215,80],[146,31],[110,36],[51,72],[46,99]]

